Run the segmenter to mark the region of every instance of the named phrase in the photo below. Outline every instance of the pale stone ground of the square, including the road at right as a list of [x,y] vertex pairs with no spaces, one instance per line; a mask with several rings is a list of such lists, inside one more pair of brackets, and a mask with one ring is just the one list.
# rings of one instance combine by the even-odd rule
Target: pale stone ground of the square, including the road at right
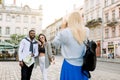
[[[48,68],[48,80],[59,80],[63,61],[62,56],[55,56],[56,62]],[[91,80],[119,80],[120,63],[97,62],[95,71],[91,72]],[[0,62],[0,80],[20,80],[20,66],[18,62]],[[42,80],[40,67],[33,69],[31,80]]]

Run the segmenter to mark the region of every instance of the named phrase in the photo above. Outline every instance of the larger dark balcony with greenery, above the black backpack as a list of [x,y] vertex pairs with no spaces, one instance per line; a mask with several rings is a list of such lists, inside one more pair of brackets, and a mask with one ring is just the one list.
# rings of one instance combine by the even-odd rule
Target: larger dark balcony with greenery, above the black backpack
[[101,23],[102,23],[102,19],[98,18],[98,19],[93,19],[91,21],[88,21],[85,26],[92,28],[92,27],[96,27],[96,26],[100,25]]

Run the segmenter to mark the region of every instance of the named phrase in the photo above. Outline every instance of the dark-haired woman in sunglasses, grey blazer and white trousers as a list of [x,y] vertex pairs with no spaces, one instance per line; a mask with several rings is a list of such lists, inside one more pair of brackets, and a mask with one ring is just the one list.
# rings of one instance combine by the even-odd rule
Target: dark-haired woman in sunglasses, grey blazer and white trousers
[[54,56],[52,55],[51,44],[47,42],[44,34],[38,36],[38,50],[39,50],[39,65],[42,71],[43,80],[47,80],[47,68],[53,62]]

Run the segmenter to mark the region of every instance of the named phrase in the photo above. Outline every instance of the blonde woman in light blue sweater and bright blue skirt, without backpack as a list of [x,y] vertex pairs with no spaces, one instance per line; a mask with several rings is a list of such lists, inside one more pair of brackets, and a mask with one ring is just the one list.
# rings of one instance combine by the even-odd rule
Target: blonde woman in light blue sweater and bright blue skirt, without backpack
[[60,80],[88,80],[81,69],[85,54],[83,41],[86,40],[87,29],[83,25],[79,12],[71,13],[66,22],[67,27],[64,26],[65,28],[55,36],[52,42],[55,47],[61,46],[61,54],[64,57]]

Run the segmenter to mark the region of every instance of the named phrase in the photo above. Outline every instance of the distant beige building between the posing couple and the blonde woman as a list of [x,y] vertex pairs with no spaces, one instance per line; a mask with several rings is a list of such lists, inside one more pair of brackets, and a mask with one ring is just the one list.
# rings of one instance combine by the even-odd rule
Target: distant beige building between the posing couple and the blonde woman
[[[51,42],[54,39],[55,35],[57,35],[57,33],[60,31],[61,24],[62,18],[59,18],[45,28],[43,33],[46,35],[49,42]],[[56,49],[54,46],[52,46],[52,51],[55,55],[60,54],[60,47]]]

